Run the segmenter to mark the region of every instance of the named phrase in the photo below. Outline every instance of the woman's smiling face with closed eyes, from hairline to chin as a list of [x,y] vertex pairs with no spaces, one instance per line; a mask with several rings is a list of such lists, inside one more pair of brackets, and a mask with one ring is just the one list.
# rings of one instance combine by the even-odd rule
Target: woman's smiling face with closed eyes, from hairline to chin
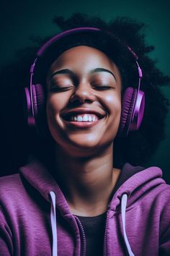
[[47,118],[55,142],[71,155],[112,145],[121,114],[121,78],[102,51],[76,46],[49,69]]

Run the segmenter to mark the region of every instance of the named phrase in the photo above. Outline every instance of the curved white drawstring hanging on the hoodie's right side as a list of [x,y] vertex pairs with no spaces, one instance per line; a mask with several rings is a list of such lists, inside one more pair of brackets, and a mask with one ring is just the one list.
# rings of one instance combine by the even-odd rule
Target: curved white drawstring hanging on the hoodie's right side
[[122,200],[121,200],[121,213],[122,213],[122,229],[123,229],[123,237],[125,240],[125,244],[126,247],[128,249],[128,253],[130,256],[135,256],[133,254],[132,249],[130,248],[130,244],[128,241],[128,237],[126,235],[126,229],[125,229],[125,211],[126,211],[126,205],[127,205],[127,200],[128,200],[128,195],[127,194],[123,194],[122,195]]

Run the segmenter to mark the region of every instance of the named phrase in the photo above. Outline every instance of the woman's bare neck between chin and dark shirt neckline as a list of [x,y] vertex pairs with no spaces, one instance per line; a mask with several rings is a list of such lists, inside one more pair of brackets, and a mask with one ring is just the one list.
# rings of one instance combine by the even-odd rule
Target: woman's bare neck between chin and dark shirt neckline
[[107,210],[120,170],[113,168],[112,146],[101,155],[75,157],[56,150],[58,183],[71,213],[97,216]]

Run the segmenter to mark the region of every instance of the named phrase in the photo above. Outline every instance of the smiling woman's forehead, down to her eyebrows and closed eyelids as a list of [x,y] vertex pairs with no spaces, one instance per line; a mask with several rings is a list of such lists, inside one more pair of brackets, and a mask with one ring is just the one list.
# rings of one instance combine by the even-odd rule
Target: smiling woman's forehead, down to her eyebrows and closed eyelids
[[89,79],[91,76],[103,79],[115,77],[118,87],[122,88],[122,77],[117,65],[97,48],[76,46],[64,51],[50,66],[46,81],[59,72],[68,77],[68,72],[63,72],[64,70],[69,70],[79,80]]

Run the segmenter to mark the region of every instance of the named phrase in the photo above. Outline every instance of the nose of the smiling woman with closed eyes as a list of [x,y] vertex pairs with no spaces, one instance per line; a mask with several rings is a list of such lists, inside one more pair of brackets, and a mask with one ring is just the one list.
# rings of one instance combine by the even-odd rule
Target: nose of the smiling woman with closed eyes
[[94,92],[92,91],[91,85],[86,82],[81,82],[75,87],[73,95],[71,96],[71,103],[91,103],[95,100]]

